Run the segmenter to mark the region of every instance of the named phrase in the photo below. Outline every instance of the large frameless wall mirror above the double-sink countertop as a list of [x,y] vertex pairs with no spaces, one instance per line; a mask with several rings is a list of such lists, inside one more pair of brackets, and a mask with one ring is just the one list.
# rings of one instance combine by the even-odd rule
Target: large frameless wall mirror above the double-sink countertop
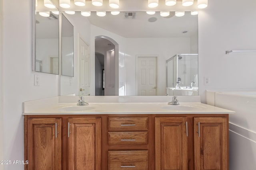
[[[168,94],[168,88],[175,88],[176,84],[167,86],[167,61],[176,54],[198,54],[197,15],[185,12],[184,16],[177,17],[174,14],[170,12],[168,17],[160,16],[160,12],[154,15],[106,12],[104,17],[97,16],[96,12],[88,17],[78,11],[66,14],[74,25],[74,77],[60,77],[60,95]],[[189,87],[198,74],[198,64],[188,67],[188,59],[183,56],[181,61],[186,63],[179,66],[182,88]],[[196,58],[189,63],[197,63],[194,60],[198,62]],[[191,77],[186,76],[189,68],[196,70],[193,80],[185,80]],[[195,90],[198,90],[197,84],[192,84]]]

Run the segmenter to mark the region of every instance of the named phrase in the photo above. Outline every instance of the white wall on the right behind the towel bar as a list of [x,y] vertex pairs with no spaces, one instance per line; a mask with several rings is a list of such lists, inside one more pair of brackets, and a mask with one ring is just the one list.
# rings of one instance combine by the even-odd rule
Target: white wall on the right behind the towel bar
[[[205,90],[256,89],[256,53],[227,50],[256,50],[256,1],[209,0],[198,14],[199,95]],[[210,84],[204,85],[204,76]]]

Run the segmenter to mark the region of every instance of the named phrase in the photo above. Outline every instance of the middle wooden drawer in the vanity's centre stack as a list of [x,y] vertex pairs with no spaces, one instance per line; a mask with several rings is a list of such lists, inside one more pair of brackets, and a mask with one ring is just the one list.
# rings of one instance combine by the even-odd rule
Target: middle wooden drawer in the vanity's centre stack
[[147,144],[148,132],[108,132],[108,144]]

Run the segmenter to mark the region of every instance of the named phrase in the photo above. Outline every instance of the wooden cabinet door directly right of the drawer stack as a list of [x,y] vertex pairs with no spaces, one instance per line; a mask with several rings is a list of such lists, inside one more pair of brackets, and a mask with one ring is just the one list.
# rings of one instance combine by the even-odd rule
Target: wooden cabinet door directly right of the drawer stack
[[156,170],[188,170],[186,117],[155,118]]

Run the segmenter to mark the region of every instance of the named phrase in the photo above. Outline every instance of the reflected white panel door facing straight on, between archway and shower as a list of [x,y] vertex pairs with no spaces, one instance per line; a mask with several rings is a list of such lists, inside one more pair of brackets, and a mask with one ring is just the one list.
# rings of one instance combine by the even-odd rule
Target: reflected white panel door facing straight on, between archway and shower
[[138,57],[137,95],[156,96],[157,57]]

